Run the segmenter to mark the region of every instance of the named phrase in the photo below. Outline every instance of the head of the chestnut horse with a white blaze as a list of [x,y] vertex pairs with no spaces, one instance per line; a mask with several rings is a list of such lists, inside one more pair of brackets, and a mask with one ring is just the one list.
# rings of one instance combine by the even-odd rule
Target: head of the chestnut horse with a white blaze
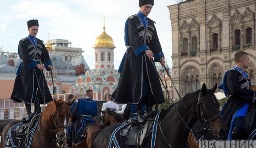
[[55,104],[55,113],[52,117],[52,121],[56,127],[58,137],[61,141],[67,139],[68,133],[67,133],[67,126],[69,118],[71,117],[71,112],[69,110],[69,107],[74,103],[75,100],[72,102],[66,102],[64,100],[55,100],[53,99]]

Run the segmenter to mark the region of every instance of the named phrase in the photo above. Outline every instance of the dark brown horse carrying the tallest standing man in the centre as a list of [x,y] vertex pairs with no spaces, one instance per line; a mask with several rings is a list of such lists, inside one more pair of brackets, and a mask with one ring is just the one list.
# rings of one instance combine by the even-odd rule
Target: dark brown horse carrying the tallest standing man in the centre
[[[175,107],[172,105],[172,107],[163,111],[162,115],[159,117],[161,119],[160,124],[163,135],[174,148],[185,148],[188,144],[187,139],[189,133],[189,130],[182,122],[180,116],[178,116],[177,110],[180,112],[180,115],[188,124],[189,128],[191,128],[198,119],[197,111],[199,111],[199,119],[202,122],[206,119],[209,121],[208,124],[210,124],[214,135],[218,137],[227,135],[228,128],[219,115],[220,105],[214,95],[216,88],[217,84],[213,88],[207,89],[206,84],[204,83],[202,85],[202,91],[198,90],[193,93],[188,93],[183,99],[174,104]],[[200,106],[202,107],[202,110],[197,108],[197,104],[201,104]],[[109,145],[110,136],[120,125],[122,124],[114,124],[102,129],[94,140],[93,148],[103,148],[106,147],[106,145]],[[157,145],[158,148],[167,148],[169,145],[164,140],[159,127],[160,126],[158,125],[155,145]],[[125,141],[125,137],[123,137],[123,141]],[[151,137],[147,136],[146,139],[144,139],[142,147],[147,147],[146,145],[150,142]],[[128,145],[127,147],[131,148],[131,146]]]

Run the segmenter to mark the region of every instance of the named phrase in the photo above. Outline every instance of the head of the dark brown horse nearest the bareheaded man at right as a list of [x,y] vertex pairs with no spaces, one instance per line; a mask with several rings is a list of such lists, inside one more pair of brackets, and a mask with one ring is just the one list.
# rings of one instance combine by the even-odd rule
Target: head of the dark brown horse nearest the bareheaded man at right
[[209,130],[212,129],[214,136],[224,137],[229,129],[219,112],[220,104],[214,95],[216,89],[217,84],[211,89],[207,89],[205,83],[202,85],[197,99],[197,117],[208,125]]

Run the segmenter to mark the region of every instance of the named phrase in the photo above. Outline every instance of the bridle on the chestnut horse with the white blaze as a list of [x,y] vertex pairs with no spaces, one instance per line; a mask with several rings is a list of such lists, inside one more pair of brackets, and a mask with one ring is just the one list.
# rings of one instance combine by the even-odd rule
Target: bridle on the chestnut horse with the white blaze
[[[65,103],[63,103],[63,104],[65,104]],[[39,132],[40,132],[41,136],[42,136],[44,139],[46,139],[46,140],[48,140],[48,141],[51,141],[52,145],[55,145],[56,143],[61,142],[61,140],[59,139],[59,129],[58,129],[58,128],[64,128],[64,129],[66,129],[66,128],[68,127],[68,125],[64,125],[64,124],[58,126],[58,123],[57,123],[57,117],[56,117],[57,111],[58,111],[58,110],[61,110],[60,107],[61,107],[63,104],[61,104],[60,106],[58,106],[58,107],[56,108],[55,113],[54,113],[54,115],[53,115],[53,117],[52,117],[52,119],[51,119],[51,120],[53,120],[53,118],[55,117],[55,120],[54,120],[54,121],[55,121],[55,122],[54,122],[55,129],[51,129],[50,126],[49,126],[49,124],[46,122],[46,124],[48,125],[48,128],[49,128],[49,131],[50,131],[50,139],[48,139],[47,137],[45,137],[44,135],[42,135],[42,132],[41,132],[41,130],[40,130],[40,127],[41,127],[41,119],[39,120]],[[52,132],[56,133],[56,138],[55,138],[55,140],[52,140]]]

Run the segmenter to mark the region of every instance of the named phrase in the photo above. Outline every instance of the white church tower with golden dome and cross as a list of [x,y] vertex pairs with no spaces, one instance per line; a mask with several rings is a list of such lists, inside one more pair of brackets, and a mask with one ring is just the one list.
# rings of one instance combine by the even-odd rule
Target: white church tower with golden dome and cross
[[103,17],[103,32],[95,39],[95,69],[114,69],[114,41],[105,31],[105,16]]

